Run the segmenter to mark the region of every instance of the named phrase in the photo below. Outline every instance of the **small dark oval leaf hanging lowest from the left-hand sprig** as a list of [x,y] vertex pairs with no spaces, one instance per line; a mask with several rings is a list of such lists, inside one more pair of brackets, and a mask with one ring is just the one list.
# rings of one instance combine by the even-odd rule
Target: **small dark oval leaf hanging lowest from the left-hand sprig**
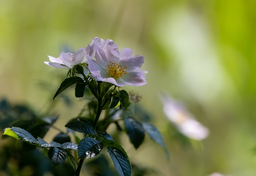
[[55,166],[58,166],[65,162],[67,158],[67,153],[63,149],[52,147],[48,151],[48,157],[50,158],[50,160],[53,162]]

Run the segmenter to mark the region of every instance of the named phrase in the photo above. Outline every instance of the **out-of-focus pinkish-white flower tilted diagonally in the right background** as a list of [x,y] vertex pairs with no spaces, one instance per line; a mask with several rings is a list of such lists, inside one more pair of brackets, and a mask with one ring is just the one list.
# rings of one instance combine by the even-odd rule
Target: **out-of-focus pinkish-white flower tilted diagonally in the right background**
[[208,129],[170,96],[164,94],[164,96],[161,96],[161,100],[164,105],[164,113],[180,133],[195,140],[202,140],[208,137]]

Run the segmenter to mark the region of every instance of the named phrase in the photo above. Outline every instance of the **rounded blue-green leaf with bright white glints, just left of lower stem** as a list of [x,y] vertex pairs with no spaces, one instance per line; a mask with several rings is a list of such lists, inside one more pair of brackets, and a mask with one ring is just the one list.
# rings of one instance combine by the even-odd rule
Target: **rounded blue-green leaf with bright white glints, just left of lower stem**
[[78,144],[78,158],[93,158],[98,155],[103,149],[103,145],[100,141],[86,137]]

